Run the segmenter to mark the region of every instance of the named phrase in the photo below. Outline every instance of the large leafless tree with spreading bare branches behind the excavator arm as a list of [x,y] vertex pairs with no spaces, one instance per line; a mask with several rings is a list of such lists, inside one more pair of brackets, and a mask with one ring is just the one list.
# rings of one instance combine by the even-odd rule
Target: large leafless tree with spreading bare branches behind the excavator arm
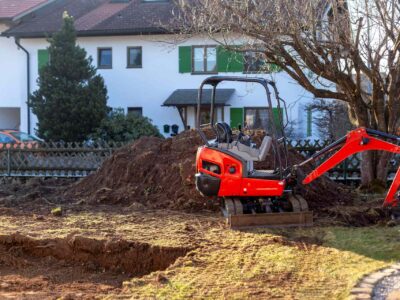
[[[398,0],[178,1],[187,34],[261,53],[315,98],[345,102],[355,126],[396,132]],[[364,153],[362,184],[386,182],[389,159],[387,153]]]

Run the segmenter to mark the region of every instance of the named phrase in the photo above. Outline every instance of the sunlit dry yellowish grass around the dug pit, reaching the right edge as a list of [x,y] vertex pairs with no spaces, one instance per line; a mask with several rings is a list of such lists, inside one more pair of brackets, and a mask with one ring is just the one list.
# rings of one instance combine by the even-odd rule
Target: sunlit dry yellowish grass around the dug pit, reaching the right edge
[[[41,219],[41,218],[39,218]],[[125,283],[121,298],[345,299],[362,275],[400,260],[399,228],[231,231],[215,215],[82,210],[0,216],[1,234],[121,237],[194,250],[162,272]],[[115,297],[115,296],[113,296]]]

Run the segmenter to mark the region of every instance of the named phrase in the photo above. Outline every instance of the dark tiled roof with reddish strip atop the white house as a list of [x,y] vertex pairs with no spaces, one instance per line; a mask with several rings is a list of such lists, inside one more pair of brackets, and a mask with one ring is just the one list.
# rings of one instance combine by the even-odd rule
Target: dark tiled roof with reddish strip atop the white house
[[[0,0],[2,1],[2,0]],[[75,18],[78,35],[118,35],[166,32],[174,20],[173,0],[144,2],[130,0],[55,0],[37,11],[35,17],[8,30],[6,35],[45,37],[58,31],[62,14]]]

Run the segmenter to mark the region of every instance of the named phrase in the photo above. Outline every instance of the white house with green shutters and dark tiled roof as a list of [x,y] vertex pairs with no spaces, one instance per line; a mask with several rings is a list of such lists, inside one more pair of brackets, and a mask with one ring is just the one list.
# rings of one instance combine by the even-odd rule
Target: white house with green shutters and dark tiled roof
[[[304,109],[304,103],[312,96],[283,72],[271,67],[271,72],[260,74],[257,61],[225,51],[206,37],[190,38],[175,44],[176,36],[167,34],[158,25],[172,19],[174,6],[171,2],[55,0],[3,32],[10,37],[10,43],[16,38],[30,58],[27,66],[28,55],[13,45],[19,65],[19,75],[13,82],[18,85],[15,89],[20,93],[18,103],[24,103],[19,110],[21,130],[36,126],[32,114],[28,124],[27,89],[32,92],[37,88],[38,70],[49,60],[45,37],[60,28],[62,15],[67,11],[75,18],[78,43],[92,56],[98,72],[105,79],[109,106],[149,117],[166,136],[174,124],[178,125],[179,131],[195,126],[196,89],[205,78],[217,74],[275,80],[280,96],[287,102],[289,120],[297,122],[297,136],[316,136],[317,131],[313,130]],[[21,72],[24,66],[25,70]],[[29,87],[21,76],[26,72],[30,74]],[[4,73],[0,76],[7,77]],[[267,100],[261,86],[224,83],[219,88],[218,120],[232,127],[246,122],[250,128],[267,121]],[[273,112],[279,114],[276,107]],[[209,118],[205,109],[202,109],[202,118]]]

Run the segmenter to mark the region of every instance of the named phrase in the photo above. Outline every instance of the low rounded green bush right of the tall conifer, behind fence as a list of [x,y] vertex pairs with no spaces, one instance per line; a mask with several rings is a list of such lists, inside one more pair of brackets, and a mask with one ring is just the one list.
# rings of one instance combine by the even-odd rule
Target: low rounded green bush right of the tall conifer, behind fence
[[125,114],[122,108],[114,109],[90,138],[95,140],[129,142],[142,136],[162,137],[156,126],[146,117]]

